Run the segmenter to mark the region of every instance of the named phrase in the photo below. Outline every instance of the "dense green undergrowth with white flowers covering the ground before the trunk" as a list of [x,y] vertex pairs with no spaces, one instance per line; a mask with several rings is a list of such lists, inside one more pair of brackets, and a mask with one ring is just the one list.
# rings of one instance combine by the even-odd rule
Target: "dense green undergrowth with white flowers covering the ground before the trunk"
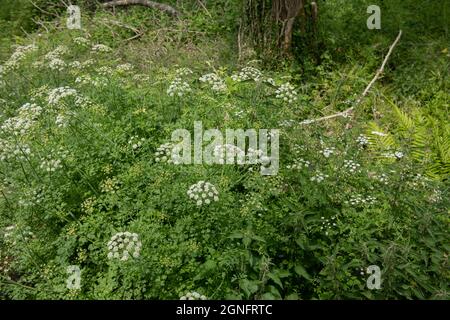
[[[320,65],[305,53],[269,69],[252,52],[238,61],[226,3],[176,22],[142,8],[91,12],[81,31],[51,20],[2,48],[1,298],[449,298],[445,20],[417,37],[402,25],[352,118],[304,125],[355,102],[395,23],[368,39],[324,18]],[[339,5],[324,17],[357,6]],[[130,40],[130,26],[146,32]],[[280,129],[278,174],[169,163],[172,132],[195,121]],[[213,186],[199,204],[200,181]],[[69,265],[80,289],[66,287]]]

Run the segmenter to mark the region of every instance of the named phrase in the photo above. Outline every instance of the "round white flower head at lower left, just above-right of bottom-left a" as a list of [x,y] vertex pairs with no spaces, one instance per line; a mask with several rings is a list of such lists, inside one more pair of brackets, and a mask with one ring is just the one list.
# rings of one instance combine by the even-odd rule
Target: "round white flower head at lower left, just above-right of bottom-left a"
[[139,258],[142,243],[139,236],[131,232],[119,232],[108,242],[108,259],[127,261],[130,257]]

